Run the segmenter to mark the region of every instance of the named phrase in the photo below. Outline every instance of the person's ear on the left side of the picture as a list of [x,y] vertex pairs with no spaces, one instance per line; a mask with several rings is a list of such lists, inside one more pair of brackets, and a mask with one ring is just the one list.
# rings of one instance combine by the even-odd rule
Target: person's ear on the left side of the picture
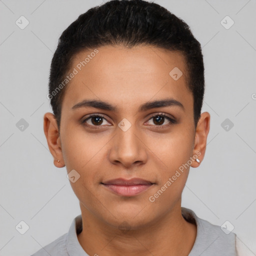
[[64,161],[61,150],[61,143],[57,121],[52,113],[45,113],[43,116],[43,130],[47,139],[50,153],[53,156],[53,163],[56,167],[64,167]]

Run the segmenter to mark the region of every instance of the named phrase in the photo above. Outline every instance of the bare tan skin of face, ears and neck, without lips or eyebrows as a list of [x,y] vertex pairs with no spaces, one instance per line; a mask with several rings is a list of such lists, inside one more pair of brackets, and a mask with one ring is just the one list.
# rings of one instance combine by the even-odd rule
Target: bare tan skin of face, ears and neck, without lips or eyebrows
[[[98,50],[66,87],[60,130],[52,113],[44,115],[54,165],[80,175],[76,182],[70,181],[82,215],[78,241],[89,255],[188,255],[196,237],[196,225],[181,215],[181,192],[189,168],[154,202],[148,198],[196,152],[202,161],[210,115],[201,113],[195,129],[193,96],[186,87],[185,61],[179,52],[146,45],[132,49],[108,45]],[[90,52],[76,54],[70,70]],[[176,81],[169,75],[174,67],[183,72]],[[184,109],[171,105],[139,111],[141,104],[167,97],[180,101]],[[117,109],[72,109],[84,99],[107,101]],[[85,122],[88,126],[81,122],[92,113],[103,115],[101,126],[95,118]],[[157,113],[174,117],[176,123],[164,118],[157,124],[152,118]],[[123,118],[131,124],[126,131],[118,126]],[[198,165],[194,160],[190,164]],[[139,177],[155,184],[129,197],[101,184],[119,177]]]

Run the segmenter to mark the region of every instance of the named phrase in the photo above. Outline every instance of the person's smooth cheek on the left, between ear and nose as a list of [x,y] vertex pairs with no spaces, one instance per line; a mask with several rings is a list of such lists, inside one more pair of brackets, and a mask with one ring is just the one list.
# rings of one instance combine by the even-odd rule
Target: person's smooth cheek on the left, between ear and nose
[[67,172],[74,169],[80,175],[75,183],[70,182],[79,197],[79,193],[84,194],[86,189],[92,191],[102,181],[102,163],[106,161],[104,145],[109,139],[71,125],[65,128],[61,139],[63,158]]

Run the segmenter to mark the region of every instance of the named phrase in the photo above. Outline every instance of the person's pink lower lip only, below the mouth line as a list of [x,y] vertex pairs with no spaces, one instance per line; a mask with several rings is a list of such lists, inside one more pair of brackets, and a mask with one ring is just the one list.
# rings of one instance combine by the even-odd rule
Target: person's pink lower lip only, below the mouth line
[[145,191],[152,184],[148,184],[148,185],[138,184],[138,185],[129,185],[129,186],[114,185],[114,184],[103,184],[103,185],[119,195],[132,196]]

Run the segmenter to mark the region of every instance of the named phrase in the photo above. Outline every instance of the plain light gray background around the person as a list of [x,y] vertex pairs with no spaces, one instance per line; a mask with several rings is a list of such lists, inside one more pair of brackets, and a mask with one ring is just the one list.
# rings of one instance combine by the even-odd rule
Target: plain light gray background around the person
[[[182,206],[228,220],[256,255],[256,1],[155,0],[190,25],[202,45],[211,115],[206,156],[190,168]],[[49,65],[60,33],[102,0],[0,0],[0,255],[29,255],[68,231],[80,214],[65,168],[56,168],[43,133]],[[29,24],[20,29],[21,16]],[[234,24],[226,29],[226,16]],[[19,20],[19,19],[18,19]],[[230,20],[225,21],[230,25]],[[24,24],[24,22],[23,22]],[[16,123],[25,119],[28,127]],[[234,126],[225,130],[229,119]],[[20,234],[15,226],[25,221]]]

